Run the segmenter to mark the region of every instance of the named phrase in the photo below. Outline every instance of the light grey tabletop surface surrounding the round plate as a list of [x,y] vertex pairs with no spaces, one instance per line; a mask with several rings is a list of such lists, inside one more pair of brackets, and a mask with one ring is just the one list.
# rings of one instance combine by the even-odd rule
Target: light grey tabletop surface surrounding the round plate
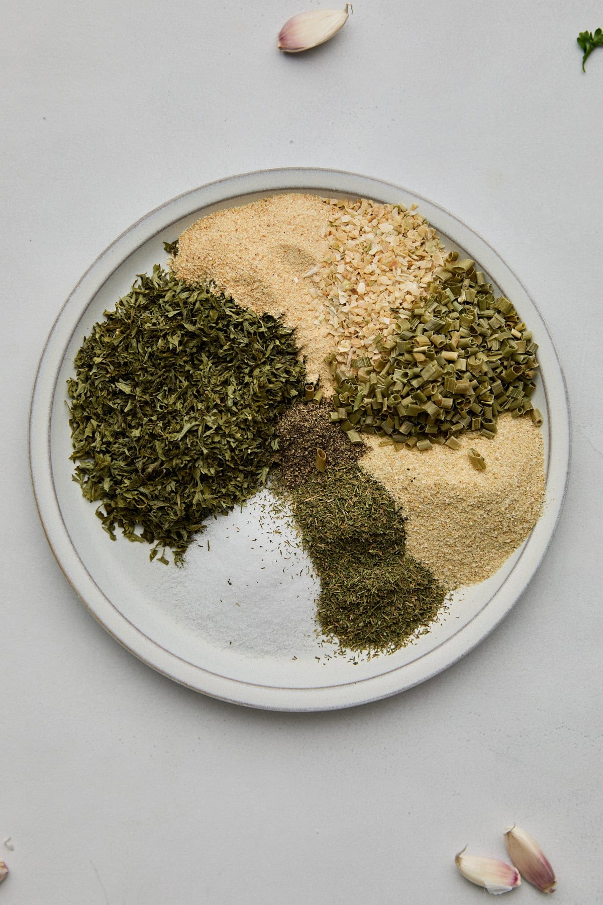
[[[314,5],[4,0],[3,905],[470,905],[455,852],[503,855],[513,821],[558,903],[601,901],[603,51],[584,75],[575,43],[600,0],[357,0],[333,43],[279,55]],[[203,698],[112,641],[52,557],[26,457],[80,273],[172,195],[287,165],[398,182],[484,235],[548,321],[573,414],[561,524],[504,624],[413,691],[308,716]]]

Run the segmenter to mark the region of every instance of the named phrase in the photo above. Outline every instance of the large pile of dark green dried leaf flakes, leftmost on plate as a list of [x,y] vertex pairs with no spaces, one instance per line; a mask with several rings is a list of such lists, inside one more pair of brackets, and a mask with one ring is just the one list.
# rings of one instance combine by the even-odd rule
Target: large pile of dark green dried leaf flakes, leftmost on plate
[[158,265],[105,316],[68,381],[74,480],[111,538],[182,562],[204,519],[266,481],[304,367],[280,321]]

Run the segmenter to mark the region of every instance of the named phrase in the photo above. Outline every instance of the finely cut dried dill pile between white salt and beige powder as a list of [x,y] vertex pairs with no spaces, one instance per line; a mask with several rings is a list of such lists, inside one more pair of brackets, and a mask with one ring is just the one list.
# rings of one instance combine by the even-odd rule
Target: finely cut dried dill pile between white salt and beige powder
[[427,631],[446,592],[405,555],[404,519],[378,481],[355,464],[340,464],[315,472],[289,499],[320,577],[316,619],[327,639],[372,656]]

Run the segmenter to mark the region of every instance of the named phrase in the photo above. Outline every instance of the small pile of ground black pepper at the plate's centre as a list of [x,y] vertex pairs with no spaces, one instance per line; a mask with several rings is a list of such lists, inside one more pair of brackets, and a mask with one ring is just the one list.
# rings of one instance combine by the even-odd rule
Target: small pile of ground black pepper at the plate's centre
[[331,404],[322,400],[298,403],[277,424],[280,474],[287,488],[297,487],[316,472],[316,452],[325,452],[325,474],[336,465],[356,462],[366,448],[350,443],[329,421]]

